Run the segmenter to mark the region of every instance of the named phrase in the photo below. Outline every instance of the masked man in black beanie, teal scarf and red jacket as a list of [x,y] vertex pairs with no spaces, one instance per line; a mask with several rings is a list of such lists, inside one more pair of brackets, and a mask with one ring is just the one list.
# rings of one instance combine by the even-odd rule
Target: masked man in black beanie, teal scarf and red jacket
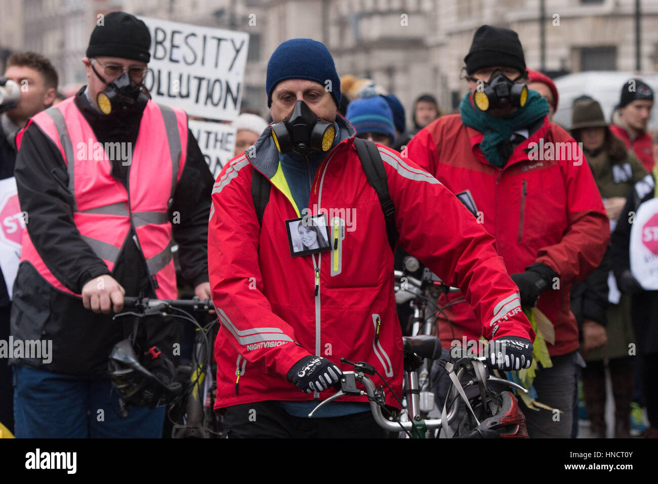
[[[569,437],[578,349],[569,286],[600,263],[608,221],[577,144],[548,121],[545,99],[524,89],[517,33],[481,26],[465,63],[470,92],[461,113],[420,130],[408,155],[471,207],[495,237],[521,304],[536,304],[553,323],[555,344],[548,345],[553,367],[540,368],[534,387],[539,402],[562,413],[524,414],[530,437]],[[457,298],[461,294],[440,300],[440,306]],[[451,338],[480,338],[482,326],[468,304],[444,312],[452,323],[440,320],[444,348]]]

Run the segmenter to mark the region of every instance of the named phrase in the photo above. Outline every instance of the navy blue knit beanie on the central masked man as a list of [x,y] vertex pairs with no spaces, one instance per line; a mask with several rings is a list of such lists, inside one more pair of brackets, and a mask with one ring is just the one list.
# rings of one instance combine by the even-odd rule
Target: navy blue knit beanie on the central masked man
[[267,63],[267,107],[272,106],[272,91],[286,79],[307,79],[322,84],[331,81],[331,94],[336,106],[340,105],[340,78],[334,59],[324,43],[313,39],[291,39],[276,47]]

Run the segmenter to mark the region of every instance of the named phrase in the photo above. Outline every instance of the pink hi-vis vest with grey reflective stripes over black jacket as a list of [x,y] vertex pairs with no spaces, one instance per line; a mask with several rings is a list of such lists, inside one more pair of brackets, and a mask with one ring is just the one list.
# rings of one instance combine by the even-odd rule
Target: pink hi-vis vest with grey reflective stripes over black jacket
[[[124,244],[137,244],[146,259],[156,296],[160,299],[176,298],[168,210],[188,151],[186,113],[149,101],[141,117],[132,159],[121,160],[121,153],[130,153],[130,149],[119,143],[103,146],[103,159],[99,159],[99,142],[73,99],[64,99],[34,116],[30,122],[37,124],[51,139],[66,163],[68,190],[74,196],[72,211],[76,227],[110,271]],[[19,148],[21,135],[22,132],[16,137]],[[130,162],[127,191],[111,176],[112,162],[108,154],[119,160],[114,163]],[[126,240],[131,225],[137,234],[134,241]],[[29,261],[55,288],[81,296],[66,288],[46,267],[27,230],[23,230],[20,261]]]

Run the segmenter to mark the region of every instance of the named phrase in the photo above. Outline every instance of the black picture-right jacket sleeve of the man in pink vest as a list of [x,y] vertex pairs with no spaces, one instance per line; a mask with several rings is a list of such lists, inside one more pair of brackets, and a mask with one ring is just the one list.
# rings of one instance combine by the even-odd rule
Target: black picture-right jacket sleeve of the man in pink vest
[[208,219],[213,175],[188,130],[188,154],[171,207],[174,240],[184,279],[195,287],[208,282]]

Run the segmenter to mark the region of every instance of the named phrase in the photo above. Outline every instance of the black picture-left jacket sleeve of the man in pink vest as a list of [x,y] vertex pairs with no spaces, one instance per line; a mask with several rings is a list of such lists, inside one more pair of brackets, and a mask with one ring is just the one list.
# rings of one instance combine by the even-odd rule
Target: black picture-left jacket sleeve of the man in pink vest
[[73,221],[73,196],[64,159],[36,124],[30,124],[23,134],[14,176],[20,209],[27,212],[30,240],[53,275],[80,294],[86,282],[110,274],[80,236]]

